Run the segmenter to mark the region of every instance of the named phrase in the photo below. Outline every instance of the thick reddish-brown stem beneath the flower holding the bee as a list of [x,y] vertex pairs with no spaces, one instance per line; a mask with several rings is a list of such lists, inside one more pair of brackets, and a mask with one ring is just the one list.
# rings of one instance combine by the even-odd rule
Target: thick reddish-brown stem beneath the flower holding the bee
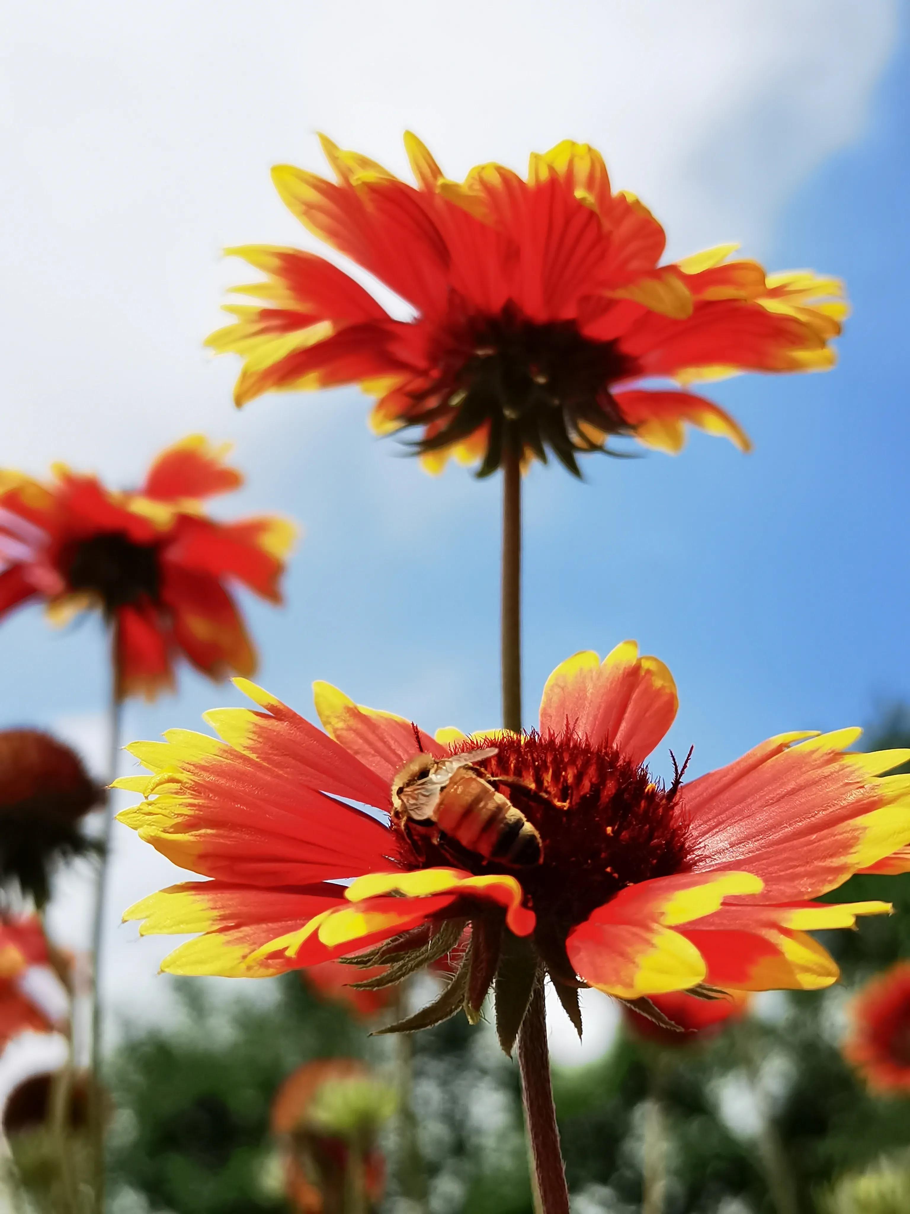
[[538,1192],[544,1214],[569,1214],[569,1191],[559,1150],[553,1089],[550,1083],[544,982],[534,983],[528,1010],[518,1034],[518,1065],[522,1071],[522,1097],[530,1138]]

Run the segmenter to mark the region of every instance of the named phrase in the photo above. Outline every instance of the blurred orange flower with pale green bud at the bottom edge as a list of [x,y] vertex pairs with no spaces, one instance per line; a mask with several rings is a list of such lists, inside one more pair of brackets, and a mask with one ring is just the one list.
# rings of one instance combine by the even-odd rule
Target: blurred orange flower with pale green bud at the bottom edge
[[302,1214],[353,1214],[382,1196],[376,1138],[394,1091],[356,1059],[298,1067],[278,1090],[272,1130],[281,1140],[286,1193]]

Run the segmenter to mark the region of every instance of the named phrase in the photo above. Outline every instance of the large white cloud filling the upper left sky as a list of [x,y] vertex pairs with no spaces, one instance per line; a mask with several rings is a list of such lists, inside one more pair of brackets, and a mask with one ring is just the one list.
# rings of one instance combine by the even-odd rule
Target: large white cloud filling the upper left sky
[[413,126],[451,174],[573,135],[676,251],[761,251],[861,131],[894,27],[894,0],[22,5],[0,59],[4,463],[138,475],[190,427],[277,433],[280,409],[232,414],[234,367],[200,341],[237,280],[222,245],[303,239],[267,170],[317,168],[317,127],[403,169]]

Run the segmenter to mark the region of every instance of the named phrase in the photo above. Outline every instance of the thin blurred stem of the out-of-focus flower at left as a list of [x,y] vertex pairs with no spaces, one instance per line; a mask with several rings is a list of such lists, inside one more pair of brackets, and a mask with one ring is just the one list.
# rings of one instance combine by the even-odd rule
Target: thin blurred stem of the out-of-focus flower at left
[[[110,700],[108,704],[108,775],[109,783],[116,778],[116,760],[120,749],[120,717],[123,698],[120,696],[120,673],[116,660],[116,624],[110,626]],[[92,1147],[92,1193],[96,1214],[104,1209],[104,1097],[101,1087],[102,1077],[102,955],[104,949],[104,915],[107,912],[108,868],[110,863],[110,839],[114,826],[114,794],[108,789],[104,800],[104,829],[102,833],[102,852],[95,884],[95,914],[92,921],[92,986],[90,997],[90,1049],[91,1049],[91,1088],[89,1093],[89,1125]]]

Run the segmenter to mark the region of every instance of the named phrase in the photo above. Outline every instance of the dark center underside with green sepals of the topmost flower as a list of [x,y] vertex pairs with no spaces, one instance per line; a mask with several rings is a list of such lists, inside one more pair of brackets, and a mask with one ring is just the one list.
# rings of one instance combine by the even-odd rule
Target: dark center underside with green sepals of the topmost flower
[[466,313],[456,296],[428,361],[437,378],[417,397],[428,407],[409,418],[430,426],[417,446],[437,450],[489,424],[480,475],[499,467],[506,444],[544,461],[551,450],[578,475],[575,453],[599,448],[591,427],[604,436],[629,430],[609,388],[633,374],[633,362],[574,320],[541,324],[512,304],[496,316]]

